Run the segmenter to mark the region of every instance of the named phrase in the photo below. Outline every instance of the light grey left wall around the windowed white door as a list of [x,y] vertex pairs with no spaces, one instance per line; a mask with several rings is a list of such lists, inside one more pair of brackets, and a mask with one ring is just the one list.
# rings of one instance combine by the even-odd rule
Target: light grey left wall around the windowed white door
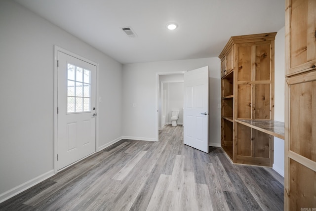
[[55,44],[99,64],[99,146],[121,137],[122,65],[1,0],[0,201],[53,173]]

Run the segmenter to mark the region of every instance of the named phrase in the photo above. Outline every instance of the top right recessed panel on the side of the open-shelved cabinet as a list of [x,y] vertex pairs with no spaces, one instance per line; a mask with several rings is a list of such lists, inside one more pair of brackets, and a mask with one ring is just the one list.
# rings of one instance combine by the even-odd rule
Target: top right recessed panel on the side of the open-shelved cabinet
[[[271,65],[271,53],[270,44],[256,45],[256,81],[270,81],[270,65]],[[268,70],[268,71],[267,71]]]

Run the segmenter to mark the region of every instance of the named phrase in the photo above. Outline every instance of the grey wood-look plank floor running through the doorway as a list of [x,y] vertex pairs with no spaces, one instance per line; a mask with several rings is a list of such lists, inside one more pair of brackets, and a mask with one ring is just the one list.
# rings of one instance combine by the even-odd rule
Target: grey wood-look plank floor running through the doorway
[[0,204],[0,210],[282,211],[283,177],[233,165],[221,148],[183,144],[183,127],[159,141],[121,140]]

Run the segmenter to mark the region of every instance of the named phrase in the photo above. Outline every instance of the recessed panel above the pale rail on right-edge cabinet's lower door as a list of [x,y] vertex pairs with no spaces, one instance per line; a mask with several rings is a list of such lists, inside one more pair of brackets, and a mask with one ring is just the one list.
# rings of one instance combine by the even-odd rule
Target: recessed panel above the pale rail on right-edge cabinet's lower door
[[290,85],[289,104],[290,150],[316,162],[316,79]]

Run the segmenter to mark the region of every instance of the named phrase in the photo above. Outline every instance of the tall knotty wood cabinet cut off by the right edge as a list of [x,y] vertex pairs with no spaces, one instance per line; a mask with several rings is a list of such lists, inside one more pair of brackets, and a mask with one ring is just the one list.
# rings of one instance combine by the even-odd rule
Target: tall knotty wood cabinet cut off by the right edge
[[316,0],[285,1],[284,210],[316,209]]

